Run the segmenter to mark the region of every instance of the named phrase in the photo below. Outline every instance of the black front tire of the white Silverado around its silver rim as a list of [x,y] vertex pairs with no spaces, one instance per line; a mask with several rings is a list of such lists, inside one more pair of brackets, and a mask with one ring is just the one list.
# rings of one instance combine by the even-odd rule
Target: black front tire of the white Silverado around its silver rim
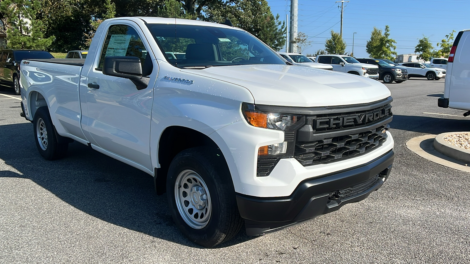
[[[184,220],[183,217],[188,219],[196,215],[193,210],[190,210],[190,207],[194,205],[193,202],[198,202],[197,199],[194,199],[193,196],[195,187],[188,187],[186,181],[183,181],[184,184],[180,184],[181,175],[186,175],[188,171],[193,171],[196,175],[199,176],[203,181],[199,181],[203,187],[207,188],[208,194],[206,205],[204,208],[210,209],[210,216],[206,220],[205,226],[201,225],[198,228],[191,227],[188,222],[189,220]],[[187,176],[192,177],[192,176]],[[187,179],[184,178],[183,179]],[[175,190],[175,185],[179,182],[178,188]],[[189,181],[188,181],[189,182]],[[193,181],[190,182],[193,184]],[[186,184],[186,185],[185,185]],[[194,184],[193,184],[194,186]],[[184,189],[186,188],[190,194],[184,196]],[[205,190],[204,188],[204,190]],[[181,193],[181,196],[175,197],[175,193]],[[166,181],[166,193],[168,196],[168,203],[170,211],[173,217],[173,220],[183,233],[190,241],[195,242],[204,247],[214,247],[220,243],[230,240],[233,238],[243,225],[243,219],[240,217],[238,212],[238,207],[235,199],[235,189],[232,183],[230,172],[228,171],[227,163],[222,153],[215,148],[209,147],[197,147],[189,148],[181,151],[176,155],[170,164],[168,170],[168,176]],[[196,197],[199,194],[196,194]],[[181,197],[190,197],[190,198],[181,198]],[[200,196],[202,197],[202,196]],[[177,199],[180,199],[179,204],[181,210],[180,212],[177,205]],[[185,203],[181,199],[187,199],[191,203]],[[201,199],[199,199],[201,201]],[[210,207],[209,207],[210,206]],[[188,209],[189,208],[189,209]],[[204,210],[204,209],[203,209]],[[186,214],[186,211],[188,213]],[[207,213],[207,210],[205,210]],[[190,214],[190,216],[189,216]],[[201,213],[199,216],[202,218]],[[207,214],[206,214],[207,217]],[[196,216],[196,219],[198,217]],[[194,221],[194,217],[192,218]]]

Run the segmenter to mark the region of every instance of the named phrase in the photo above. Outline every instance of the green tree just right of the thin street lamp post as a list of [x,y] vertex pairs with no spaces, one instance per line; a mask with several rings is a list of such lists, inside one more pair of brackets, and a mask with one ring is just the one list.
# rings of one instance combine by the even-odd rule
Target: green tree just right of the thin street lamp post
[[366,44],[366,52],[372,58],[376,59],[389,59],[395,58],[397,48],[394,44],[397,42],[394,39],[390,39],[390,27],[385,26],[385,32],[381,29],[374,27],[374,30],[370,34],[370,40]]

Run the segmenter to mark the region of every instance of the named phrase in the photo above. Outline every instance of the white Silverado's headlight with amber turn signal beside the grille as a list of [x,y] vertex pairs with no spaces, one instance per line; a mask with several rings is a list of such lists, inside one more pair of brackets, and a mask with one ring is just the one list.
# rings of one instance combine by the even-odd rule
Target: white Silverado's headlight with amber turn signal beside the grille
[[305,117],[284,113],[259,111],[254,104],[243,103],[242,112],[245,120],[252,126],[284,131],[284,142],[263,146],[258,149],[258,158],[262,156],[294,155],[296,130],[305,124]]

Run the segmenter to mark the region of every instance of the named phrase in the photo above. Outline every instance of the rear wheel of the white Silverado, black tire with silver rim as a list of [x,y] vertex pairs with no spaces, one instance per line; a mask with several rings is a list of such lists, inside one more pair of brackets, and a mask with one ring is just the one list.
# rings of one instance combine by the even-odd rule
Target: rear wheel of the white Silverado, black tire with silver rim
[[66,155],[69,143],[58,143],[57,132],[54,124],[52,124],[47,107],[40,107],[36,110],[33,118],[33,128],[36,147],[41,156],[47,160],[56,160]]

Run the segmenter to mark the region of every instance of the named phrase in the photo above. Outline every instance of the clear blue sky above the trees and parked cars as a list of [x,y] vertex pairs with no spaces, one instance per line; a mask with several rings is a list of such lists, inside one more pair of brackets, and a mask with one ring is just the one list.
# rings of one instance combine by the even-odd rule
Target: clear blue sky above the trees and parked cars
[[[274,16],[281,20],[290,14],[290,0],[267,0]],[[303,54],[325,48],[330,31],[340,31],[340,10],[336,0],[298,0],[298,31],[304,32],[311,42]],[[414,53],[423,34],[433,46],[446,34],[470,28],[470,0],[350,0],[345,3],[343,39],[346,51],[354,56],[368,57],[366,43],[376,26],[390,26],[390,37],[397,41],[398,54]],[[455,36],[456,34],[454,34]],[[285,50],[281,50],[285,51]]]

